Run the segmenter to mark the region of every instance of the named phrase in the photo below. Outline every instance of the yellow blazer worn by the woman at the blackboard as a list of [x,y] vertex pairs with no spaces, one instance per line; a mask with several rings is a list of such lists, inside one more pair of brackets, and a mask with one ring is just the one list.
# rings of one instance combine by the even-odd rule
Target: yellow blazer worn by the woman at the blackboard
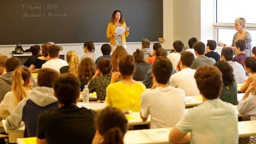
[[[126,24],[125,22],[123,24],[121,24],[121,27],[126,27]],[[111,45],[115,45],[115,36],[112,37],[112,34],[115,33],[115,24],[113,24],[112,22],[110,22],[108,24],[108,27],[107,27],[107,32],[106,32],[106,37],[109,39],[109,43]],[[127,32],[125,31],[123,34],[122,34],[122,42],[123,42],[123,45],[126,44],[126,37],[129,35],[130,31]]]

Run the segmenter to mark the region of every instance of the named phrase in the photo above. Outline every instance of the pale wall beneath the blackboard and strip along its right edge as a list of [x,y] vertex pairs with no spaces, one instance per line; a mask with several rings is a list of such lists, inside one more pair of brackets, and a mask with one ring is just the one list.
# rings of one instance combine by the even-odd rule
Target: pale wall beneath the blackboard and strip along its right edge
[[[173,33],[172,33],[172,23],[173,23],[173,16],[172,16],[172,0],[163,0],[163,38],[165,38],[165,42],[161,43],[162,47],[166,49],[170,49],[173,43]],[[34,45],[34,44],[33,44]],[[97,56],[102,56],[100,47],[102,43],[95,43],[95,53]],[[83,44],[76,44],[76,45],[61,45],[63,47],[63,51],[70,51],[75,50],[79,56],[83,56],[84,52],[82,49]],[[24,50],[29,49],[30,46],[23,46]],[[153,47],[153,44],[150,45]],[[127,52],[132,54],[136,48],[141,48],[141,43],[128,43],[127,44]],[[0,53],[10,57],[9,53],[15,49],[15,46],[1,46]]]

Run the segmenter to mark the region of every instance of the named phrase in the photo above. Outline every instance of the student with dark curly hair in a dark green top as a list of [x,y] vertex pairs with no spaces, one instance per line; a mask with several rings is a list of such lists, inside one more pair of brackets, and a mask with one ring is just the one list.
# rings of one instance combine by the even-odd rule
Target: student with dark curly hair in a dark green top
[[237,105],[237,83],[235,83],[233,68],[223,60],[217,61],[214,66],[218,67],[222,74],[223,87],[220,99]]

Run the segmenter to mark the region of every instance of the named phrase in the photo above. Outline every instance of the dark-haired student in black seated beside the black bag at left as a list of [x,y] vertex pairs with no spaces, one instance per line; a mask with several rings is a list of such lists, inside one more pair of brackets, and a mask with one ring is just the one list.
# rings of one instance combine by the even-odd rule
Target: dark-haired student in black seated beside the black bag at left
[[24,66],[26,67],[30,67],[30,65],[32,65],[39,56],[42,56],[41,47],[39,45],[33,45],[29,49],[31,50],[32,56],[30,56],[24,63]]

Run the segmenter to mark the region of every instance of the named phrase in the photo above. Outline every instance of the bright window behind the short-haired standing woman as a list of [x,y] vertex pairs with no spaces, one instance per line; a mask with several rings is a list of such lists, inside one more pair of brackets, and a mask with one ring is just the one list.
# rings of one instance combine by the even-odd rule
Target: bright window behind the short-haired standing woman
[[246,19],[246,30],[252,36],[252,47],[256,46],[256,0],[215,0],[214,38],[218,42],[231,45],[234,29],[234,20],[237,17]]

